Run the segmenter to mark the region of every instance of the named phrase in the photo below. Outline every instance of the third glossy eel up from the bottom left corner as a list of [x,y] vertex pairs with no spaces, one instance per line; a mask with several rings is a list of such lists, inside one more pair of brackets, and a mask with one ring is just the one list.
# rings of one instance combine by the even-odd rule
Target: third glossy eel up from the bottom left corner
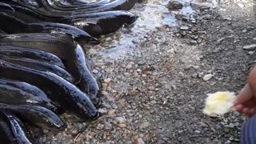
[[58,105],[38,87],[26,82],[0,78],[0,102],[10,105],[43,106],[58,113]]

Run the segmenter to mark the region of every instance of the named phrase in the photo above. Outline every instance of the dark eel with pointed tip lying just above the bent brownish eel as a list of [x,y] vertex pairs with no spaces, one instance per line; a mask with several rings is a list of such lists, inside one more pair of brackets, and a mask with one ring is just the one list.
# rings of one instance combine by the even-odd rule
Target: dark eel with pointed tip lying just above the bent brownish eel
[[[90,36],[83,30],[62,23],[54,22],[38,22],[38,23],[26,23],[22,20],[15,18],[14,16],[6,13],[0,13],[0,19],[3,22],[0,22],[1,30],[5,31],[8,34],[17,34],[17,33],[61,33],[69,34],[74,40],[78,41],[82,45],[94,44],[98,45],[100,42],[97,38]],[[13,25],[10,25],[12,23]]]

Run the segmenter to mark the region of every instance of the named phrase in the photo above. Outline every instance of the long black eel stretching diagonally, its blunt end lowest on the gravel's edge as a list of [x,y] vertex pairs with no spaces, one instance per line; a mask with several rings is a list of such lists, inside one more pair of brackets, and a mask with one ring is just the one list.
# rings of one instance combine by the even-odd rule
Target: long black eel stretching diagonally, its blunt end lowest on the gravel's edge
[[81,90],[64,78],[50,72],[42,72],[0,60],[0,77],[30,83],[44,91],[63,110],[77,118],[95,120],[99,113]]

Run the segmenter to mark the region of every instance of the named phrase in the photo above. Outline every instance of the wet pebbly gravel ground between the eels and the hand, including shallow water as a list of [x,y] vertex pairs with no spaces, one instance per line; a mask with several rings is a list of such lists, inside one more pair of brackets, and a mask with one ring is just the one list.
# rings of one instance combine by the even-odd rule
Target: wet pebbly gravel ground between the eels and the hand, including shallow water
[[246,118],[210,118],[202,109],[207,93],[245,85],[256,62],[254,49],[243,49],[256,44],[256,2],[181,3],[182,10],[168,10],[167,1],[137,4],[133,26],[86,47],[103,81],[102,117],[65,116],[66,130],[45,130],[38,142],[239,143]]

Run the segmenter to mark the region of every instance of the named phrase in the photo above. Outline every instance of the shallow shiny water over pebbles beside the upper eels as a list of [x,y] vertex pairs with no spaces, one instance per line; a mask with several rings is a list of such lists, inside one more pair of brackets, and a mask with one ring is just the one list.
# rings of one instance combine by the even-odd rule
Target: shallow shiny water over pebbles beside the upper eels
[[[182,14],[188,18],[193,18],[194,10],[191,7],[190,0],[180,0],[182,2],[182,10],[170,12],[166,8],[166,0],[149,0],[146,4],[137,4],[133,10],[134,14],[138,14],[139,18],[133,26],[119,30],[114,34],[107,35],[102,38],[102,50],[99,54],[103,58],[120,58],[127,54],[139,53],[139,43],[146,34],[150,34],[157,30],[160,26],[176,26],[177,19],[174,14]],[[208,1],[207,1],[208,2]],[[209,1],[212,6],[217,6],[215,0]],[[107,40],[106,40],[107,39]]]

